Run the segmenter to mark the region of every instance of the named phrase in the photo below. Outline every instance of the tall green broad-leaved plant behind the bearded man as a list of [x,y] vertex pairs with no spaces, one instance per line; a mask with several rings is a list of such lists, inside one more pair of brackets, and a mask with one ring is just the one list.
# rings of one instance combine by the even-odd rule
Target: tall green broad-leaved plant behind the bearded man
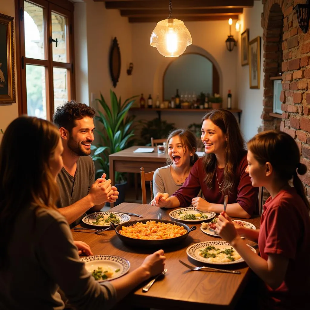
[[[103,144],[91,146],[91,149],[94,150],[92,158],[100,166],[100,169],[96,171],[96,178],[105,173],[106,179],[109,179],[109,155],[130,146],[131,139],[134,136],[135,115],[127,117],[127,113],[136,97],[133,96],[121,103],[121,98],[117,100],[115,92],[110,90],[111,107],[108,106],[101,93],[100,99],[96,99],[105,112],[103,114],[98,111],[99,115],[95,117],[96,120],[103,124],[103,131],[96,130],[102,138]],[[115,172],[115,184],[124,181],[124,173]]]

